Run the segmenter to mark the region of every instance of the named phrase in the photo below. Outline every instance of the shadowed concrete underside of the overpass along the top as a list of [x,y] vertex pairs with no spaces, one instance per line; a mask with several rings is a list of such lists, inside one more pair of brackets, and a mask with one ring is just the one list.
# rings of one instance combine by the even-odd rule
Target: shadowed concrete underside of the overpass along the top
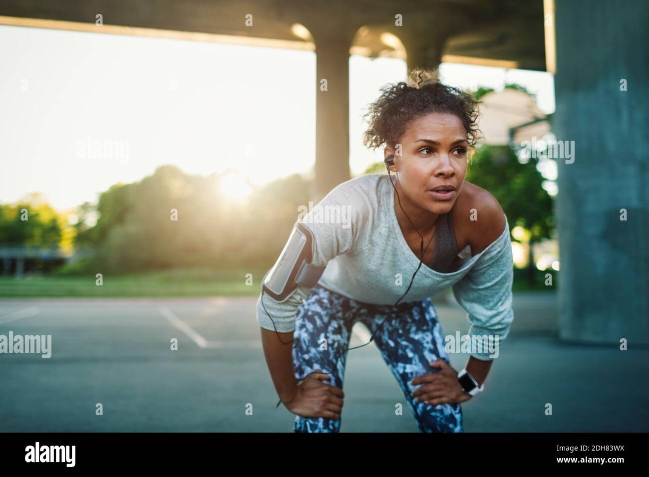
[[[395,14],[405,27],[395,27]],[[299,38],[295,23],[336,32],[362,29],[351,53],[397,56],[381,33],[406,29],[414,18],[417,34],[444,30],[443,55],[514,62],[545,71],[543,0],[3,0],[0,16],[118,25],[245,38],[284,40],[287,47],[313,43]],[[253,15],[246,27],[245,15]],[[0,23],[6,23],[0,21]],[[412,23],[411,23],[412,24]],[[243,43],[243,42],[242,42]],[[448,57],[447,57],[448,58]],[[459,59],[461,62],[461,59]],[[488,63],[488,62],[487,62]]]

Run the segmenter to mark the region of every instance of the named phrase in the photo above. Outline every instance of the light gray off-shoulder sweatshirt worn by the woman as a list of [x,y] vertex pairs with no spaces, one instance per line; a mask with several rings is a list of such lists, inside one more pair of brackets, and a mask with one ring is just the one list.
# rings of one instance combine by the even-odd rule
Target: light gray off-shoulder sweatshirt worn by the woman
[[[302,212],[306,212],[302,210]],[[302,215],[302,214],[300,214]],[[371,174],[339,184],[298,220],[313,232],[314,265],[324,266],[318,284],[350,299],[370,304],[394,304],[408,288],[419,266],[398,225],[393,187],[387,174]],[[448,286],[467,312],[469,337],[491,336],[498,344],[509,334],[513,310],[511,284],[513,257],[509,224],[482,252],[471,256],[467,246],[459,252],[459,268],[441,273],[422,264],[412,287],[401,301],[423,300]],[[288,234],[287,234],[288,235]],[[278,332],[295,329],[297,307],[310,289],[298,287],[288,300],[278,303],[264,295]],[[257,300],[257,322],[275,330],[273,321]],[[491,353],[471,348],[471,356],[491,360]]]

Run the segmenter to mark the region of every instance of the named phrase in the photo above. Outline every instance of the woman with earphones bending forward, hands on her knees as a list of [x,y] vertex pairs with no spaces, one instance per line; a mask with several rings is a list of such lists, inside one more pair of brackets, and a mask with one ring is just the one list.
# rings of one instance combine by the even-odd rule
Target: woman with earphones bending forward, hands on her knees
[[[339,430],[357,322],[372,332],[419,430],[463,432],[460,403],[484,389],[497,352],[472,346],[465,369],[453,369],[430,297],[452,286],[474,345],[479,337],[497,345],[513,320],[507,218],[491,193],[465,182],[477,116],[471,95],[435,71],[384,87],[363,140],[384,146],[387,174],[340,184],[301,221],[311,235],[306,261],[324,273],[288,296],[265,288],[257,306],[267,365],[296,432]],[[350,221],[330,220],[339,210],[350,210]]]

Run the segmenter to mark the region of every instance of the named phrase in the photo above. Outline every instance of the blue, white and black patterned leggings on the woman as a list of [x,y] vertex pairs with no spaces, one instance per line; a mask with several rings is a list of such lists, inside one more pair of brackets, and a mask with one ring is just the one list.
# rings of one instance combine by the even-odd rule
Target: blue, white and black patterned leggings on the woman
[[[345,363],[352,325],[363,323],[373,333],[391,305],[374,305],[349,299],[320,285],[315,286],[299,306],[293,334],[293,367],[298,382],[321,370],[330,374],[328,384],[343,387]],[[326,349],[324,349],[326,339]],[[428,363],[448,360],[442,329],[432,300],[400,303],[374,336],[374,343],[397,378],[408,407],[421,432],[463,432],[459,403],[415,402],[410,393],[421,384],[410,380],[435,373]],[[338,360],[338,358],[340,358]],[[337,367],[336,360],[338,360]],[[339,419],[295,416],[295,432],[338,432]]]

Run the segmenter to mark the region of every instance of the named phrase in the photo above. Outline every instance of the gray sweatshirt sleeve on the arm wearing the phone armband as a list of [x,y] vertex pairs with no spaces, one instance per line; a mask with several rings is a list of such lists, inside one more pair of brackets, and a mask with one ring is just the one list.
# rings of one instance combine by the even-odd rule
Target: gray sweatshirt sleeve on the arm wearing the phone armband
[[[371,199],[362,186],[362,180],[358,179],[343,182],[303,217],[300,216],[302,214],[298,215],[297,220],[313,234],[313,265],[326,266],[332,258],[352,251],[360,245],[359,231],[367,227],[373,217]],[[302,207],[302,213],[306,210],[306,206]],[[291,231],[287,232],[288,236]],[[260,293],[257,300],[257,323],[267,330],[293,331],[297,307],[306,299],[310,290],[299,286],[282,303],[276,302],[267,293]]]

